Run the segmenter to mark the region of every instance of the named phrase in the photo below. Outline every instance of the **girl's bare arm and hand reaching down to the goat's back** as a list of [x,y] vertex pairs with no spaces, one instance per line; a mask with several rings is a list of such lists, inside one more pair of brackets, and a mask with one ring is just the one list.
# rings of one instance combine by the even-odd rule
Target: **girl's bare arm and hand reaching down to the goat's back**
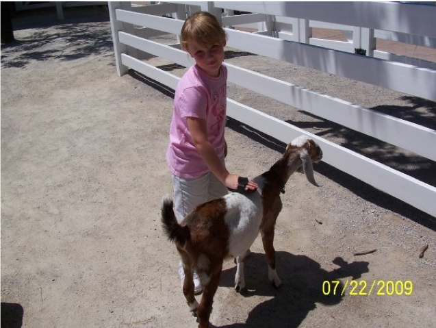
[[[207,138],[207,123],[202,118],[188,117],[188,129],[192,137],[192,142],[196,147],[198,153],[203,158],[203,161],[209,170],[220,179],[222,184],[227,188],[238,188],[238,175],[231,175],[227,168],[222,164],[220,158],[216,154],[214,147],[212,147],[209,139]],[[257,189],[257,184],[253,181],[248,181],[246,190]]]

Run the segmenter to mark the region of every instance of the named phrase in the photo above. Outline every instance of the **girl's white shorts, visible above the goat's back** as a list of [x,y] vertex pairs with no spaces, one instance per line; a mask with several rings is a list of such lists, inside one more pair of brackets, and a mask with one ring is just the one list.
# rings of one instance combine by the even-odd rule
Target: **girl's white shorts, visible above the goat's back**
[[180,222],[196,205],[217,199],[229,191],[214,173],[200,177],[177,177],[172,175],[174,203],[177,220]]

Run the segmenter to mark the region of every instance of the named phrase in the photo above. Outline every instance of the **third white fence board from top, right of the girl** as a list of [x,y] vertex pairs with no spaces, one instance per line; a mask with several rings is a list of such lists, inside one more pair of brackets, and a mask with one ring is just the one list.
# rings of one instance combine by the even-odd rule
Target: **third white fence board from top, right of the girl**
[[436,131],[227,64],[229,81],[436,161]]

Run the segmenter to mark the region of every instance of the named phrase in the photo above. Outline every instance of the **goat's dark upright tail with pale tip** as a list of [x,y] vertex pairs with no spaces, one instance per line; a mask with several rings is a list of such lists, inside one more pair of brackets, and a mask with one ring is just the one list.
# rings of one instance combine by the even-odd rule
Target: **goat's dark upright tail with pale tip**
[[179,247],[183,247],[185,242],[190,239],[190,231],[188,227],[179,225],[172,205],[172,199],[168,195],[164,196],[161,207],[162,227],[170,241],[175,242]]

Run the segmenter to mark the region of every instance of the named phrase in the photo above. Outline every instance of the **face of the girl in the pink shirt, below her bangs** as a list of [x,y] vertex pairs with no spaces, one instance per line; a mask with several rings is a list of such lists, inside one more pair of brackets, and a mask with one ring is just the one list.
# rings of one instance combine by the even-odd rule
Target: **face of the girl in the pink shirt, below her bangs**
[[211,77],[220,74],[220,66],[224,62],[224,45],[205,45],[195,40],[188,40],[188,53],[196,64]]

